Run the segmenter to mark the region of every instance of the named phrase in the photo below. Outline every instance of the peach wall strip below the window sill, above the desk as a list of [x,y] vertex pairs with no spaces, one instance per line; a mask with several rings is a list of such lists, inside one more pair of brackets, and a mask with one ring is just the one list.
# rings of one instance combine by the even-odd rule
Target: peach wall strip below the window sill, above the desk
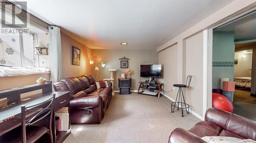
[[6,90],[16,87],[23,87],[25,85],[35,84],[36,79],[39,77],[44,77],[47,80],[49,80],[50,74],[32,74],[24,76],[0,77],[0,90]]

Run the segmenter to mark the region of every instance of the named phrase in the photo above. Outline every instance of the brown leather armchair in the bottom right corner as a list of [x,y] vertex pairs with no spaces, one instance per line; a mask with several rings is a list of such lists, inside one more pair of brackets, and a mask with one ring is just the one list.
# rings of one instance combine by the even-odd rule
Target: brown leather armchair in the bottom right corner
[[231,136],[256,140],[256,122],[233,113],[209,108],[205,114],[205,121],[198,122],[188,131],[176,128],[170,134],[168,142],[205,142],[201,139],[204,136]]

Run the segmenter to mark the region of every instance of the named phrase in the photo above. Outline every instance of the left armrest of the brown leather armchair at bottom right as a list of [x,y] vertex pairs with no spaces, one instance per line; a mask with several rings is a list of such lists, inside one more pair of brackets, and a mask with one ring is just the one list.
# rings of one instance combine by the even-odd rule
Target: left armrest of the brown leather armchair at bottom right
[[197,142],[197,143],[205,143],[203,139],[199,136],[184,130],[182,128],[176,128],[169,136],[169,143],[187,143],[187,142]]

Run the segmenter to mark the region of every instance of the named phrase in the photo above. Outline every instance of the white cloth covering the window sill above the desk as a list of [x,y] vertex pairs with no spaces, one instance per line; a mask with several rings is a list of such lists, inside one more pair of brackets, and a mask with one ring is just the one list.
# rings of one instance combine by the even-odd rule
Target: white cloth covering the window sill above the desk
[[0,77],[30,75],[30,74],[43,74],[43,73],[51,73],[51,70],[49,70],[47,68],[0,67]]

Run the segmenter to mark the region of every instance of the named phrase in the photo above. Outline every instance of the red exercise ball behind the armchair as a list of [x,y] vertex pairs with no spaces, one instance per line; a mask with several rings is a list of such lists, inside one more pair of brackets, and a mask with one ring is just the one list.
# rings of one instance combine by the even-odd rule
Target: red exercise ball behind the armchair
[[231,101],[224,95],[218,93],[212,93],[212,107],[228,112],[234,111]]

